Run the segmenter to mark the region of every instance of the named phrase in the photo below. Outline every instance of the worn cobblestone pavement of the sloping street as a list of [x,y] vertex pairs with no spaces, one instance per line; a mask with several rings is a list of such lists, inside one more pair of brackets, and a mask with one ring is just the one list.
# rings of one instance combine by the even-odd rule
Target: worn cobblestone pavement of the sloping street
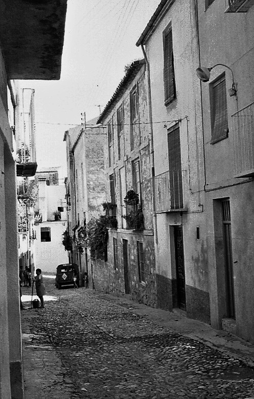
[[[46,282],[57,300],[22,312],[35,355],[25,362],[26,399],[254,398],[243,361],[138,315],[135,302]],[[43,375],[31,376],[38,364]]]

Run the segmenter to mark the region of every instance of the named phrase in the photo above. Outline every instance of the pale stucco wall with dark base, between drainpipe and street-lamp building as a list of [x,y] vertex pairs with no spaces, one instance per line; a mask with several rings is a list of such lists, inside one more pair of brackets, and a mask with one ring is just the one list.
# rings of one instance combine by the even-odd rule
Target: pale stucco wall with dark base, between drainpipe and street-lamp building
[[[165,106],[163,32],[172,27],[176,99]],[[156,273],[159,306],[176,301],[174,226],[183,228],[186,314],[209,321],[207,243],[204,215],[204,160],[197,21],[194,2],[178,0],[157,23],[146,43],[150,65],[155,176],[169,170],[168,129],[178,121],[183,182],[183,212],[157,214]],[[200,239],[196,239],[196,228]],[[205,298],[205,301],[204,301]],[[205,302],[200,309],[200,303]]]

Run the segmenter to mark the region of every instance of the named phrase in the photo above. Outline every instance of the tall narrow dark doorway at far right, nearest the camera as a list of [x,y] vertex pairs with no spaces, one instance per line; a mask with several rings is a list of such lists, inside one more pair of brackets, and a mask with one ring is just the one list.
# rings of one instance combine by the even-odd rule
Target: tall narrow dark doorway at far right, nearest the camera
[[225,256],[227,316],[235,319],[234,273],[232,261],[231,212],[229,199],[221,201],[223,215],[223,243]]

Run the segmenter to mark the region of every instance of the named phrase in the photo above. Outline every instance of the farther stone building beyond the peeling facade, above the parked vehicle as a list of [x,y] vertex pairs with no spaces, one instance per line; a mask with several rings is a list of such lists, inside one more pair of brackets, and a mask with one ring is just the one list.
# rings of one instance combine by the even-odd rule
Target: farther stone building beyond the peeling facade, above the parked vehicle
[[67,151],[66,195],[67,234],[72,239],[69,259],[79,265],[80,281],[88,273],[93,286],[93,263],[87,247],[86,225],[103,212],[106,200],[106,132],[96,126],[96,119],[86,126],[76,126],[65,132]]

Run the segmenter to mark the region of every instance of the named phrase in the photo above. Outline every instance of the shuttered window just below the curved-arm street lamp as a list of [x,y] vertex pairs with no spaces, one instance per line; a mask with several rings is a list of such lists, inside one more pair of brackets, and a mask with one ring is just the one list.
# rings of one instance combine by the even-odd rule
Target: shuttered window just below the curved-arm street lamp
[[210,84],[211,144],[228,137],[228,109],[225,74]]

